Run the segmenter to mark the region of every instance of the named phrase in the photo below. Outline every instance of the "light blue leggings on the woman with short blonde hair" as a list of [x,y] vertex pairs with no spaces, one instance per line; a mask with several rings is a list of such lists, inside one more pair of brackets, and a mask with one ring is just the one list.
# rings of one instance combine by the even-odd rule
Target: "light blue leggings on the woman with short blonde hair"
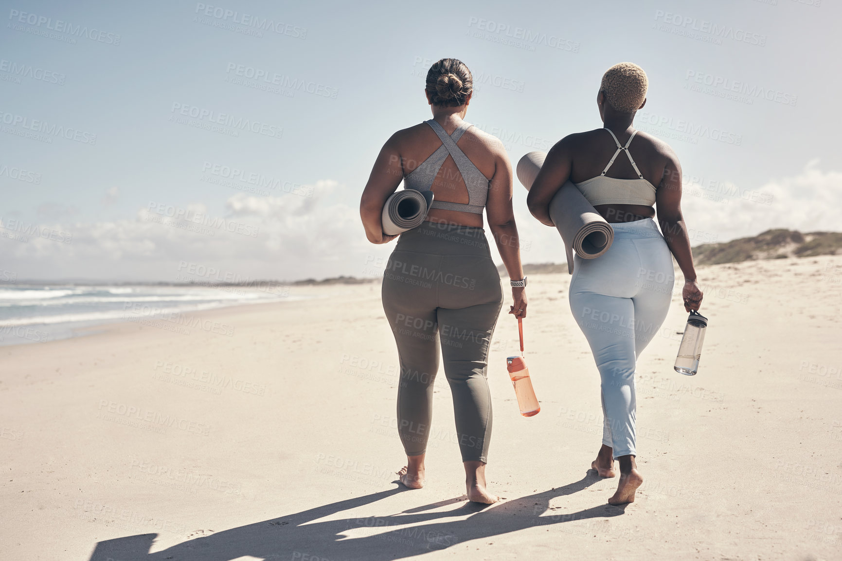
[[674,273],[654,220],[611,227],[614,243],[604,255],[574,257],[570,310],[602,378],[602,443],[619,458],[637,455],[635,364],[667,316]]

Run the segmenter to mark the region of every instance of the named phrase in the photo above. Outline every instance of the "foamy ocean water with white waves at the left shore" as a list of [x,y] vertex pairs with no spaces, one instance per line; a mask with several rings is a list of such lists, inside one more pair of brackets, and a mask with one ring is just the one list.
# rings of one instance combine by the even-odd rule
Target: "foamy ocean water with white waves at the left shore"
[[[0,346],[56,341],[97,332],[98,325],[134,321],[177,333],[232,335],[234,326],[192,314],[241,304],[303,299],[286,286],[43,286],[0,287]],[[100,330],[101,331],[101,330]]]

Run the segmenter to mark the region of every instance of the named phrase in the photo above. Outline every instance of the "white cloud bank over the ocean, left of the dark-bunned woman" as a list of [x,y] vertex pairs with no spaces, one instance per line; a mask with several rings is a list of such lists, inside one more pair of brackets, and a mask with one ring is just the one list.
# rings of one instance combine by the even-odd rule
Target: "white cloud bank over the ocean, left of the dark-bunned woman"
[[[36,233],[25,243],[0,239],[0,251],[19,278],[166,281],[175,278],[179,262],[189,261],[227,267],[243,277],[296,279],[343,273],[354,256],[361,270],[368,242],[357,209],[331,197],[339,187],[335,181],[317,182],[312,197],[237,193],[226,201],[224,216],[195,203],[184,209],[144,207],[131,220],[39,224],[40,232],[72,234],[72,243]],[[174,220],[179,212],[189,220]],[[19,223],[18,233],[33,227]]]

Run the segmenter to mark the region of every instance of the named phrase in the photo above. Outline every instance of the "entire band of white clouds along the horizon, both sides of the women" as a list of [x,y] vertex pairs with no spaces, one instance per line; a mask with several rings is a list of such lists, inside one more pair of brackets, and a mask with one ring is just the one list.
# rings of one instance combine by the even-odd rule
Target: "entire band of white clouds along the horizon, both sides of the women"
[[[685,218],[699,235],[693,245],[704,241],[703,236],[727,241],[769,228],[842,230],[837,215],[842,208],[842,172],[823,171],[818,161],[808,162],[795,177],[771,181],[755,191],[725,185],[720,188],[729,193],[724,202],[702,198],[700,193],[708,193],[706,190],[685,189]],[[181,261],[199,262],[249,278],[292,280],[376,274],[394,242],[373,246],[365,240],[356,205],[338,202],[345,189],[340,183],[322,180],[311,187],[312,197],[237,193],[227,199],[224,216],[210,216],[210,224],[222,220],[221,227],[210,228],[213,236],[152,221],[165,216],[148,208],[138,209],[133,219],[96,223],[72,224],[56,216],[50,223],[38,225],[42,236],[45,229],[70,233],[71,244],[37,234],[29,236],[26,243],[0,238],[3,268],[18,273],[21,279],[167,281],[175,279]],[[539,224],[520,208],[522,195],[516,195],[516,216],[525,244],[523,262],[563,262],[564,249],[557,231]],[[207,208],[201,203],[189,204],[184,212],[191,217],[205,215]],[[185,221],[179,224],[198,226]],[[258,235],[226,231],[226,225],[232,224],[234,230],[259,229]],[[27,226],[24,222],[22,227]],[[499,262],[497,251],[492,251]],[[373,268],[372,263],[376,263]]]

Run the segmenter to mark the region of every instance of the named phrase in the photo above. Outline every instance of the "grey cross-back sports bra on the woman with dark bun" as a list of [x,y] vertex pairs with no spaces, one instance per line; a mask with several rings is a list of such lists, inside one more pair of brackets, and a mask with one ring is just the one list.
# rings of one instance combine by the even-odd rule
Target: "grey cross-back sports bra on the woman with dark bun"
[[459,168],[462,181],[465,182],[465,187],[468,189],[468,204],[434,200],[433,204],[430,204],[430,208],[482,214],[482,209],[485,208],[485,203],[488,199],[489,179],[482,175],[482,172],[473,165],[473,162],[468,159],[468,156],[465,156],[465,152],[461,151],[459,146],[456,146],[456,142],[473,125],[462,121],[462,124],[453,131],[453,134],[448,135],[444,127],[434,119],[429,119],[429,121],[424,121],[424,123],[429,124],[435,134],[439,135],[441,146],[429,158],[424,160],[420,166],[416,167],[412,173],[403,178],[404,188],[422,192],[429,191],[433,187],[435,176],[438,175],[447,156],[451,156],[456,163],[456,167]]

